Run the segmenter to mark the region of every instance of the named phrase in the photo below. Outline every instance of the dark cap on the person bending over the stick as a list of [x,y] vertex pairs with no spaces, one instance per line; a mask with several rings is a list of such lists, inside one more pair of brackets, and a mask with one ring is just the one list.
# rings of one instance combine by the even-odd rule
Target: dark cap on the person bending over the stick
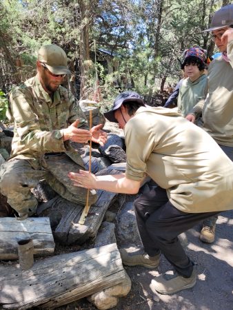
[[142,97],[137,92],[126,91],[122,92],[117,96],[117,98],[114,100],[112,109],[108,112],[103,113],[103,115],[105,116],[105,118],[108,119],[108,121],[118,123],[117,119],[114,116],[114,112],[119,109],[119,107],[121,107],[122,103],[130,101],[138,102],[145,106]]

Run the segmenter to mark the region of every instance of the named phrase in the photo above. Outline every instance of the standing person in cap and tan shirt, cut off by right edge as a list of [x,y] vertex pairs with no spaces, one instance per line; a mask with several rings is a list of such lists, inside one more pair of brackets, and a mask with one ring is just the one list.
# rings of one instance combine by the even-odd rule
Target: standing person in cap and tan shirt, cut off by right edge
[[[216,11],[210,28],[212,40],[221,52],[214,59],[207,73],[208,94],[206,100],[194,106],[186,117],[197,125],[219,144],[223,152],[233,161],[233,4]],[[221,165],[221,161],[219,161]],[[215,238],[217,217],[203,223],[200,239],[212,243]]]

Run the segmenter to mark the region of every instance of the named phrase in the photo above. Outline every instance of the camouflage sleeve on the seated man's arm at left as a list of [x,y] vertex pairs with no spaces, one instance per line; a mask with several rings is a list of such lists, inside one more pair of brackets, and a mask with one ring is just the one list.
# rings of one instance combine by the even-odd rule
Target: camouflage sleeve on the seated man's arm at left
[[11,92],[10,112],[21,144],[37,152],[65,152],[62,130],[41,130],[32,94],[28,90],[17,87]]

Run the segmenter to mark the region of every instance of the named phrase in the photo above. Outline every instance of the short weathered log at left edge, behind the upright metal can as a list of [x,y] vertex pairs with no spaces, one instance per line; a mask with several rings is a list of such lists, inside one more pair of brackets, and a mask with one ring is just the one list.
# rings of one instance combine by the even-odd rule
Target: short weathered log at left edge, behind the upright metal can
[[35,256],[54,253],[49,218],[0,218],[0,260],[18,259],[18,241],[32,239]]

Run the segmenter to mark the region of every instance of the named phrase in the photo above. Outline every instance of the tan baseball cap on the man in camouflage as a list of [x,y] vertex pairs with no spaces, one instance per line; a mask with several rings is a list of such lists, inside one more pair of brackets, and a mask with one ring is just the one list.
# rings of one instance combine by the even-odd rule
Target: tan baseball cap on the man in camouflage
[[71,74],[65,51],[56,44],[43,45],[38,52],[38,61],[53,74]]

